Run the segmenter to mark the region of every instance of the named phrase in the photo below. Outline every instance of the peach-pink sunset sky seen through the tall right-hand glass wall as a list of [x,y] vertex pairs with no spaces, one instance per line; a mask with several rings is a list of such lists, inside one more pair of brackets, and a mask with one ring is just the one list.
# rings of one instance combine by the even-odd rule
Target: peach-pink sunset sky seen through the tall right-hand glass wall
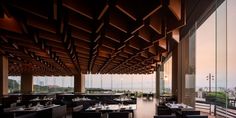
[[[208,87],[208,81],[206,76],[208,73],[215,74],[216,59],[217,61],[217,79],[218,86],[226,86],[226,65],[227,59],[227,86],[228,88],[236,87],[236,0],[227,1],[227,45],[226,35],[224,32],[224,25],[226,22],[225,4],[223,4],[216,13],[212,14],[204,24],[202,24],[196,32],[196,86],[197,87]],[[216,20],[217,18],[217,20]],[[216,22],[217,21],[217,22]],[[216,35],[216,28],[217,35]],[[216,38],[217,37],[217,38]],[[217,47],[216,47],[217,40]],[[223,40],[223,41],[222,41]],[[222,43],[223,42],[223,43]],[[227,48],[226,48],[227,46]],[[216,58],[217,49],[217,58]],[[227,49],[227,58],[225,52]],[[222,52],[223,51],[223,52]],[[226,67],[226,66],[225,66]],[[220,72],[219,72],[220,71]],[[215,75],[214,75],[215,76]],[[212,82],[214,87],[215,81]]]

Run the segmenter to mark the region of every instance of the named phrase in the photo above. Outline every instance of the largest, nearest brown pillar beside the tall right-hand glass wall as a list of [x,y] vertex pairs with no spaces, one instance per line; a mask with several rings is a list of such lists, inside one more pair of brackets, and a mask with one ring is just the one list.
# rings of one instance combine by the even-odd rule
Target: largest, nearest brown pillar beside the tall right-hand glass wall
[[195,107],[195,52],[194,37],[184,37],[178,45],[178,102]]

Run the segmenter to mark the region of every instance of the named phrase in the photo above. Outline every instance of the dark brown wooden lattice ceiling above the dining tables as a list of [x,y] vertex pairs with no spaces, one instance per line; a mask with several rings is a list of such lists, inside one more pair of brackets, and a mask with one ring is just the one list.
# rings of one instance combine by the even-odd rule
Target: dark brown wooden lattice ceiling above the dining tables
[[179,40],[184,0],[5,0],[9,74],[152,73]]

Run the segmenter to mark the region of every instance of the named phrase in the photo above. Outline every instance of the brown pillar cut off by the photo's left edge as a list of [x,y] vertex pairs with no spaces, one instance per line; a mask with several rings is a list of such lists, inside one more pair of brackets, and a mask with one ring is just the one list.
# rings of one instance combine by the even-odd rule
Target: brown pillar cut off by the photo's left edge
[[0,94],[8,94],[8,58],[0,55]]

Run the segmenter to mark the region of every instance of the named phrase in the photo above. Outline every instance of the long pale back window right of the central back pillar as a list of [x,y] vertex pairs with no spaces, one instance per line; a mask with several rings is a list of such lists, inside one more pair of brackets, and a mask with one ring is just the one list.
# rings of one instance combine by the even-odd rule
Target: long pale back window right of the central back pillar
[[85,87],[115,91],[155,92],[153,74],[87,74]]

